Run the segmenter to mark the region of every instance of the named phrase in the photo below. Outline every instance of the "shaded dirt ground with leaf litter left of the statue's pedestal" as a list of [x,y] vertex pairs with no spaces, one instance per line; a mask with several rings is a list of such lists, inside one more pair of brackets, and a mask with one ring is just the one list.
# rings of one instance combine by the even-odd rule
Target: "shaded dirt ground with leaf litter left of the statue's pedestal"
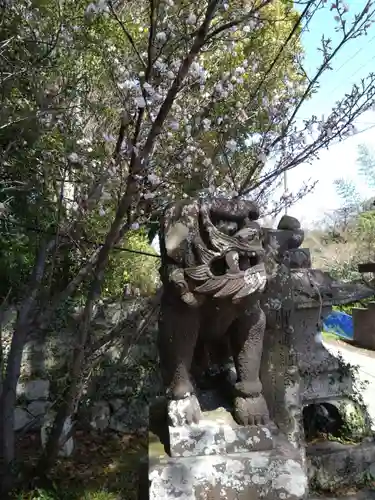
[[[48,498],[138,500],[139,473],[147,460],[146,434],[77,430],[75,446],[72,457],[58,460],[51,471],[50,484],[58,493]],[[24,436],[17,448],[19,463],[30,469],[41,450],[39,433]],[[34,497],[24,491],[17,498]]]

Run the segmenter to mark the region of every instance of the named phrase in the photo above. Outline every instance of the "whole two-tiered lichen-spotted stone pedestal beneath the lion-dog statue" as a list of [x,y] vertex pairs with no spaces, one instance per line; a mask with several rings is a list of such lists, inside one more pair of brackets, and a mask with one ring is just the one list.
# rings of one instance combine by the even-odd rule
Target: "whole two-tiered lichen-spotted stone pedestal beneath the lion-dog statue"
[[276,427],[238,426],[220,408],[196,426],[174,428],[169,439],[159,401],[150,412],[149,486],[149,500],[300,500],[307,477]]

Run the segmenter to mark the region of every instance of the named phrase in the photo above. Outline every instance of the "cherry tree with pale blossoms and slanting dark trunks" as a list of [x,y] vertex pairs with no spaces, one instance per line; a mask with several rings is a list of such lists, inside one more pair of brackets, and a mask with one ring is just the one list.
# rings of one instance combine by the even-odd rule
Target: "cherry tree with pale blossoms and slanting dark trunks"
[[[320,9],[335,17],[340,40],[333,45],[323,37],[321,64],[308,75],[299,37]],[[322,148],[352,134],[354,120],[374,104],[373,74],[338,100],[326,119],[312,116],[298,127],[296,116],[339,51],[366,35],[374,13],[370,1],[354,16],[341,1],[327,6],[310,0],[301,13],[271,0],[79,3],[77,15],[91,43],[90,57],[101,61],[111,104],[104,120],[103,156],[90,160],[94,168],[83,170],[98,128],[95,115],[88,112],[90,100],[85,101],[84,94],[76,97],[79,111],[74,116],[85,122],[86,137],[67,156],[66,172],[85,175],[85,182],[75,185],[73,200],[67,200],[69,178],[63,177],[59,199],[64,218],[58,219],[56,234],[76,234],[95,212],[105,219],[104,243],[87,254],[62,291],[36,308],[48,256],[55,254],[58,238],[41,245],[0,396],[0,455],[8,465],[13,445],[5,436],[12,434],[15,387],[30,329],[48,324],[61,301],[91,280],[69,383],[40,463],[40,470],[47,470],[56,458],[64,422],[76,405],[93,307],[113,247],[126,242],[129,231],[146,224],[176,197],[251,197],[266,207],[282,173],[311,162]],[[65,47],[76,31],[76,26],[61,23]],[[103,32],[114,35],[106,40]],[[102,99],[104,106],[108,94],[99,90],[100,78],[97,83],[87,95]]]

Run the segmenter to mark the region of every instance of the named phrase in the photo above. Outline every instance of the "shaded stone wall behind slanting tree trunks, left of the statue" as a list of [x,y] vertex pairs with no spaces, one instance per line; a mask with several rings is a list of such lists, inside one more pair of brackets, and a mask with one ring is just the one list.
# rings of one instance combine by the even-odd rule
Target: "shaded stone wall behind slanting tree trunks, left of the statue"
[[[17,387],[17,431],[40,428],[46,413],[53,410],[66,383],[79,313],[71,313],[59,330],[34,332],[27,342]],[[162,394],[157,313],[157,297],[128,297],[96,309],[90,344],[97,349],[88,353],[78,412],[94,428],[132,432],[147,426],[149,402]],[[5,351],[14,318],[14,313],[8,316]]]

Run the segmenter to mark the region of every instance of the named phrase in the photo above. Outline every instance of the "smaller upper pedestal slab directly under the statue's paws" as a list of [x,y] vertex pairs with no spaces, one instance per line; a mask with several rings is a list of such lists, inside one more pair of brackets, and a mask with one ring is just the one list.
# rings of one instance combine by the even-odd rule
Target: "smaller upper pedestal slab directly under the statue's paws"
[[173,457],[265,451],[273,447],[272,427],[238,425],[225,408],[203,412],[198,424],[169,426]]

